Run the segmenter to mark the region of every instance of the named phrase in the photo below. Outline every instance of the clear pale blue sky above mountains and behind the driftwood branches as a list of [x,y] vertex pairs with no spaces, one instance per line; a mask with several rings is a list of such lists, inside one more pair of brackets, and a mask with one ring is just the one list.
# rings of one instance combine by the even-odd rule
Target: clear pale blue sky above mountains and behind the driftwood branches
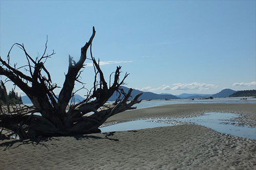
[[[48,35],[48,52],[56,54],[46,66],[59,86],[68,56],[78,60],[94,26],[94,57],[106,78],[122,65],[123,73],[130,73],[127,87],[172,94],[256,89],[255,1],[1,0],[0,5],[1,57],[15,42],[24,43],[31,56],[41,55]],[[11,62],[26,64],[18,48]],[[81,75],[87,88],[94,80],[89,62]]]

